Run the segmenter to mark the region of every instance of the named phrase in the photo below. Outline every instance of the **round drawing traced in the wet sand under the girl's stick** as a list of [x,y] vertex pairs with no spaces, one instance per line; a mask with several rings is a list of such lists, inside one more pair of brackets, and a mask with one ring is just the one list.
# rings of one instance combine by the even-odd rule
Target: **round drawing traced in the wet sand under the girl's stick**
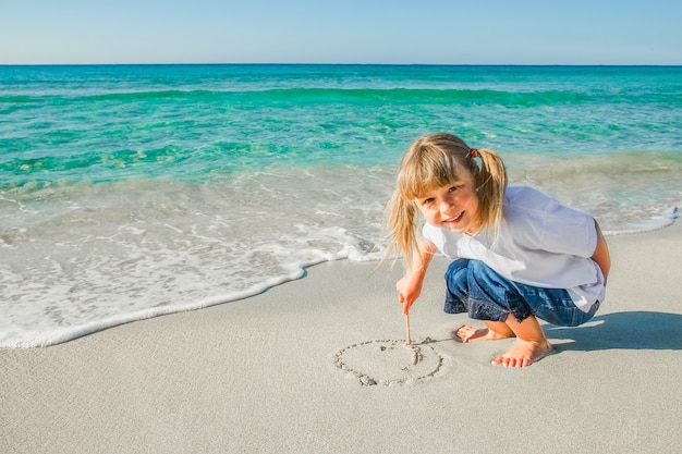
[[334,355],[334,365],[357,377],[365,386],[421,381],[440,370],[443,358],[430,339],[406,345],[404,340],[366,341]]

